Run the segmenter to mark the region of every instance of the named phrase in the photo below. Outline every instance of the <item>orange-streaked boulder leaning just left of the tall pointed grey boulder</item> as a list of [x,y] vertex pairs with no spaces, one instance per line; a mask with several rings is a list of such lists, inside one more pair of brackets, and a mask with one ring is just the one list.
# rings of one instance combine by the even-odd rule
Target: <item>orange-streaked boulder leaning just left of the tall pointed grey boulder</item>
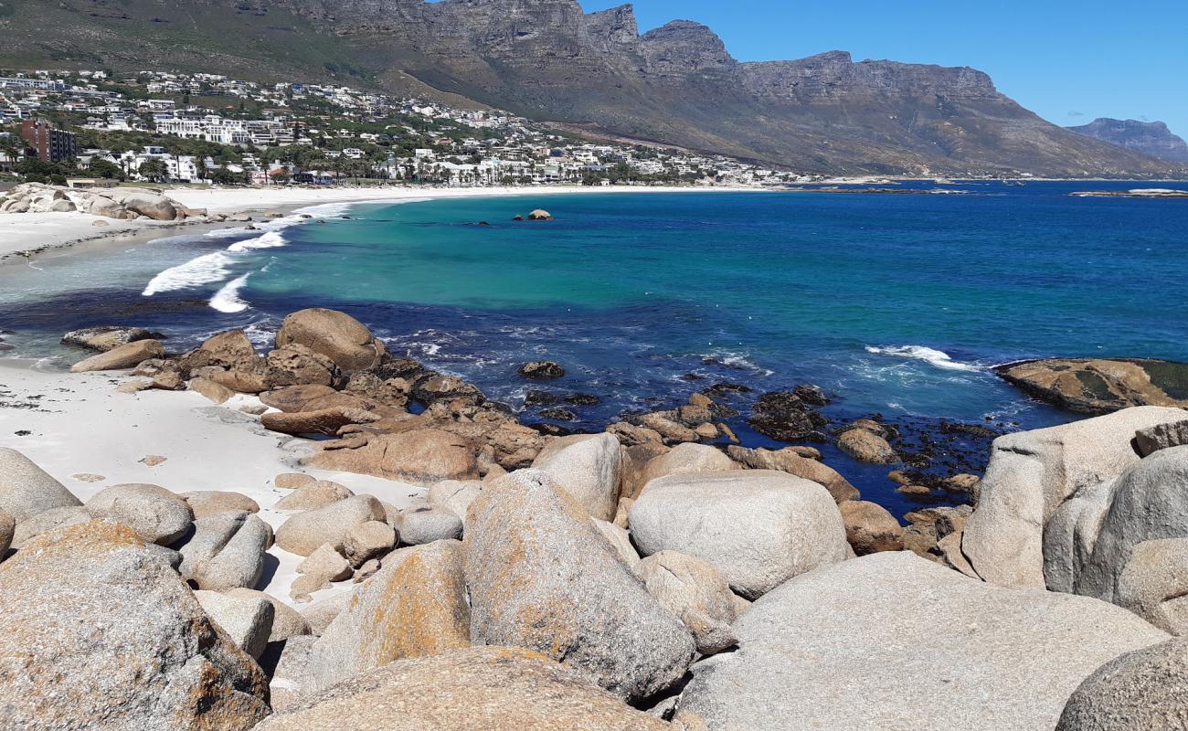
[[405,548],[355,590],[314,644],[315,689],[396,660],[470,645],[466,554],[460,541]]

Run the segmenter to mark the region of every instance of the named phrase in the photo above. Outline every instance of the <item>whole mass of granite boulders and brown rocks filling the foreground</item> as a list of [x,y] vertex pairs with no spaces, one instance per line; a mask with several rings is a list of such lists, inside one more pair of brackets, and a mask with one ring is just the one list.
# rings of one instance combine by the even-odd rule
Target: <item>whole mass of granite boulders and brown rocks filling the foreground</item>
[[[1188,714],[1176,405],[948,424],[993,439],[979,479],[925,473],[908,424],[830,423],[809,385],[750,397],[776,449],[739,443],[729,384],[595,434],[524,423],[334,310],[293,313],[264,353],[241,330],[183,353],[139,328],[67,340],[86,357],[59,378],[133,411],[204,403],[222,431],[139,458],[163,485],[67,487],[59,448],[0,448],[7,727],[1155,731]],[[596,401],[545,387],[563,373],[525,364],[530,399]],[[0,387],[12,412],[52,401]],[[131,434],[160,428],[135,414]],[[283,458],[245,472],[249,440]],[[904,527],[826,442],[958,506]],[[273,462],[267,490],[248,484]]]

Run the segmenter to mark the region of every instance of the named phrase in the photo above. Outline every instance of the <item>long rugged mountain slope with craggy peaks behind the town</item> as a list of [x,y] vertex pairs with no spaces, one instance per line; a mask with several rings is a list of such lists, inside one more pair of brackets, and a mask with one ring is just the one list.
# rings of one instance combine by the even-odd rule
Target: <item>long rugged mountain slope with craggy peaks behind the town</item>
[[[575,130],[832,174],[1158,176],[968,68],[835,51],[740,63],[708,27],[639,33],[576,0],[0,0],[0,65],[353,75]],[[7,48],[4,48],[6,46]]]

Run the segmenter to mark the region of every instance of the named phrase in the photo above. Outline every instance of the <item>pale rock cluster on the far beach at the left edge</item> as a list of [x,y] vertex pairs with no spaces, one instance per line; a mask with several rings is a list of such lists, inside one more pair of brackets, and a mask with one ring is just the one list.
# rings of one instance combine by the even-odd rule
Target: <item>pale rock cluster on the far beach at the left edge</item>
[[23,183],[0,197],[0,213],[80,212],[107,219],[184,221],[204,216],[206,210],[182,206],[146,188],[77,189],[43,183]]

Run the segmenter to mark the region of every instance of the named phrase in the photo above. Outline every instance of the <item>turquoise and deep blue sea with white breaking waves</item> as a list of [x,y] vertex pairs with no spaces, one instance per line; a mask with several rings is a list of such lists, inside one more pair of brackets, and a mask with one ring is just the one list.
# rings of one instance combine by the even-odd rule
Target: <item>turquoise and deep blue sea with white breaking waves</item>
[[[720,382],[756,390],[729,422],[748,446],[773,442],[745,427],[747,398],[800,383],[834,397],[826,415],[835,426],[880,414],[1034,428],[1075,416],[1023,397],[988,366],[1054,355],[1188,360],[1188,200],[1068,195],[1156,185],[1188,188],[529,190],[323,207],[308,221],[0,269],[0,329],[38,357],[61,354],[53,342],[65,330],[105,323],[159,329],[172,349],[232,327],[264,345],[286,313],[317,305],[352,313],[392,351],[514,408],[539,385],[517,366],[557,360],[568,374],[544,387],[602,399],[570,407],[576,429],[669,408]],[[556,220],[512,220],[533,208]],[[915,505],[893,492],[886,467],[826,452],[867,498],[901,512]]]

